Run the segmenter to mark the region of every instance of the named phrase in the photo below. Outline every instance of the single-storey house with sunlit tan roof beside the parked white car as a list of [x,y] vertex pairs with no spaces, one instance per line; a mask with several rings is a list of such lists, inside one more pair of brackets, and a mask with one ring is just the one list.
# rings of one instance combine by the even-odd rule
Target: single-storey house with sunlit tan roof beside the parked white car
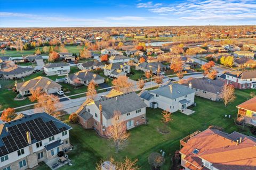
[[62,86],[49,78],[39,76],[25,82],[15,83],[15,87],[20,95],[24,96],[29,95],[31,89],[35,90],[38,87],[42,88],[42,91],[46,94],[54,94],[61,90]]

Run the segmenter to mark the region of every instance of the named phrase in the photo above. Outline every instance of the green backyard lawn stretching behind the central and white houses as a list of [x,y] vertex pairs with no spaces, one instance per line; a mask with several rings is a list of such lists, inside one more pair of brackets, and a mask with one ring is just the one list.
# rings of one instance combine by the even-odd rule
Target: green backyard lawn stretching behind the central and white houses
[[[74,150],[68,154],[73,166],[66,165],[60,169],[94,169],[95,163],[102,158],[109,159],[113,156],[117,160],[123,160],[127,156],[132,159],[138,158],[138,165],[141,166],[141,169],[148,170],[150,169],[147,161],[149,154],[159,152],[161,149],[166,152],[166,161],[162,169],[170,169],[171,156],[175,150],[180,149],[180,139],[197,130],[203,131],[210,125],[217,125],[228,133],[239,131],[251,135],[249,129],[242,130],[234,123],[234,118],[237,115],[236,106],[250,98],[251,91],[237,90],[235,102],[227,107],[222,102],[196,97],[196,106],[191,108],[196,113],[190,116],[180,112],[173,113],[173,121],[167,125],[167,129],[170,131],[167,134],[159,133],[157,130],[164,127],[161,122],[162,110],[147,108],[148,125],[141,125],[130,130],[131,137],[127,146],[118,154],[115,154],[115,149],[108,139],[100,138],[94,131],[84,130],[78,124],[68,123],[73,127],[70,132],[70,142],[74,145]],[[232,117],[225,118],[225,114],[230,114]],[[67,116],[65,118],[67,119]],[[45,169],[45,165],[39,169]]]

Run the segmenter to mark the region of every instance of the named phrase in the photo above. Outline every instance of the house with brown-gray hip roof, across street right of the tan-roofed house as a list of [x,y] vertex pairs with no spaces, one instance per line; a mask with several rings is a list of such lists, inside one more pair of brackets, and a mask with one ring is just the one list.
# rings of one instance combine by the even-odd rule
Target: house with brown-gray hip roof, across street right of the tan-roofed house
[[102,84],[105,81],[105,78],[101,77],[98,74],[95,74],[93,72],[82,70],[78,71],[74,74],[69,74],[67,77],[67,82],[69,84],[73,84],[74,86],[78,85],[87,85],[90,83],[90,81],[94,81],[97,84]]

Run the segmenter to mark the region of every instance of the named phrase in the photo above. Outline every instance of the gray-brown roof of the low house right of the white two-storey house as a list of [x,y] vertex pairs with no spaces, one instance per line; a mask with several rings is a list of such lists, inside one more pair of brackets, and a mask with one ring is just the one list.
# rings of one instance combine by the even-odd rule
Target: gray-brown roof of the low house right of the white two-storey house
[[183,83],[185,86],[192,84],[192,88],[199,89],[207,92],[212,92],[213,94],[219,94],[222,87],[224,86],[224,81],[221,79],[211,80],[208,78],[192,79]]

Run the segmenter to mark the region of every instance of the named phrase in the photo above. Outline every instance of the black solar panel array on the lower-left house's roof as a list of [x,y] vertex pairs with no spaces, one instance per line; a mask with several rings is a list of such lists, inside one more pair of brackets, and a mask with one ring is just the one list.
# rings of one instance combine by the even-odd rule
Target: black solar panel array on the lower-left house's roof
[[9,135],[2,138],[4,146],[0,147],[0,157],[28,146],[27,132],[30,132],[31,141],[38,142],[66,130],[65,126],[58,129],[53,121],[44,122],[41,117],[13,125],[8,128]]

